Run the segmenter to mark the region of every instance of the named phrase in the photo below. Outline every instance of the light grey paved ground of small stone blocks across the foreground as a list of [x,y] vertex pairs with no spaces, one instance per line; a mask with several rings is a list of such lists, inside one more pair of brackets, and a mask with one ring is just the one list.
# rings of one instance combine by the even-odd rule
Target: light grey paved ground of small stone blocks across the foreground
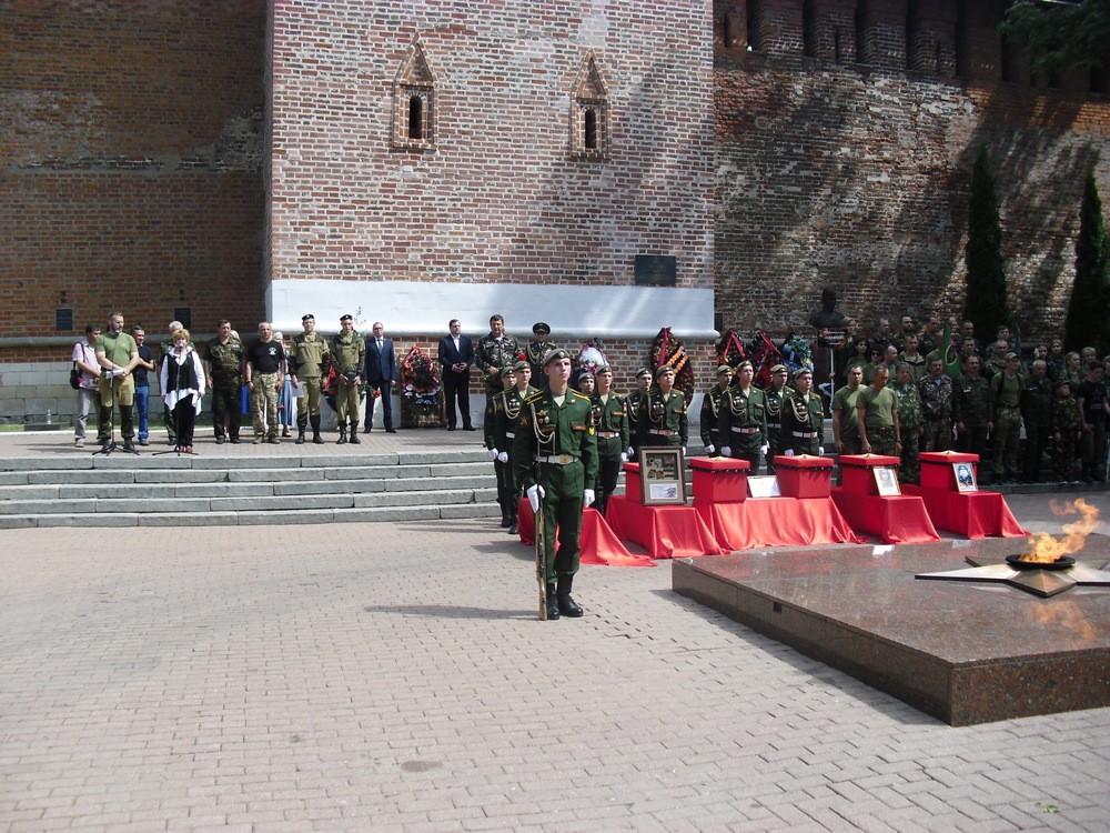
[[666,563],[584,568],[586,616],[539,622],[486,520],[8,530],[0,575],[11,833],[1110,824],[1110,710],[951,729]]

